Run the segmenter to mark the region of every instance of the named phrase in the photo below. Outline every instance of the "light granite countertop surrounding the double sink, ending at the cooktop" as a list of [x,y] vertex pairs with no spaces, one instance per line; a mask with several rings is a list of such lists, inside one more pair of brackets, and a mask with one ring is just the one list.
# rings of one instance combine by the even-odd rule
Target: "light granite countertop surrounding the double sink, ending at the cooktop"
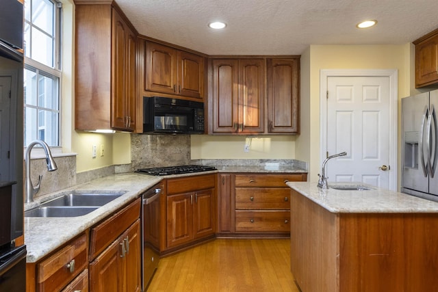
[[63,189],[60,192],[43,196],[36,202],[25,204],[25,210],[31,209],[38,206],[40,201],[50,200],[68,190],[127,191],[123,196],[87,215],[79,217],[25,217],[27,263],[35,263],[43,256],[53,252],[53,250],[125,206],[128,202],[138,198],[144,191],[162,181],[162,178],[136,173],[114,174],[70,189]]

